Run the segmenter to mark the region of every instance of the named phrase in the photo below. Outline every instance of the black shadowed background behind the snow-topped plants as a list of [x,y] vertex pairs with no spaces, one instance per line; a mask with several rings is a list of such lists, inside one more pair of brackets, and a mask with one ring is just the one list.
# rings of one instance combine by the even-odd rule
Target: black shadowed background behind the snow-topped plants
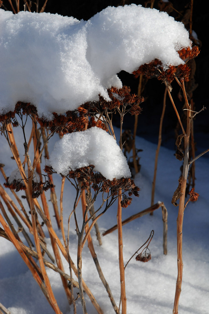
[[[39,11],[42,8],[45,1],[39,0]],[[15,7],[15,1],[14,8]],[[149,1],[108,1],[108,0],[77,0],[74,1],[55,1],[48,0],[45,8],[45,12],[58,13],[63,16],[73,16],[77,19],[88,20],[97,12],[106,8],[107,6],[118,6],[124,4],[141,4],[144,7],[150,7],[151,3]],[[20,0],[20,10],[23,10],[24,1]],[[169,4],[169,15],[173,16],[177,21],[182,21],[185,17],[187,10],[191,7],[191,1],[172,1]],[[31,11],[35,11],[35,5],[31,2]],[[154,1],[153,8],[160,9],[162,2]],[[171,9],[173,7],[173,9]],[[3,1],[2,8],[11,10],[11,6],[8,0]],[[208,29],[209,29],[209,14],[208,8],[205,1],[193,1],[193,14],[192,14],[192,30],[194,30],[198,36],[198,46],[200,49],[200,54],[196,57],[196,71],[195,71],[195,83],[198,84],[196,89],[193,91],[193,102],[195,104],[195,110],[199,111],[203,105],[207,108],[209,103],[208,96]],[[188,24],[185,25],[186,28],[189,27]],[[196,43],[194,43],[195,45]],[[131,87],[132,93],[137,94],[138,89],[138,79],[135,79],[133,75],[121,72],[118,73],[121,78],[123,85]],[[183,102],[180,102],[177,95],[179,92],[179,86],[177,83],[172,83],[172,96],[174,98],[176,107],[178,108],[179,114],[183,113],[182,106]],[[158,142],[158,128],[160,122],[160,116],[163,107],[163,94],[164,94],[164,84],[162,84],[157,79],[149,79],[145,85],[142,96],[145,98],[144,103],[141,107],[143,109],[142,114],[139,115],[137,134],[141,137],[146,138],[153,143]],[[114,124],[119,126],[119,120],[114,119]],[[126,115],[124,120],[124,129],[133,128],[134,116]],[[175,128],[177,125],[177,118],[174,113],[172,104],[167,98],[166,101],[166,111],[163,120],[163,134],[162,134],[162,145],[175,150],[175,139],[176,133]],[[197,154],[201,151],[208,149],[209,147],[209,106],[207,110],[202,111],[194,119],[194,131],[195,131],[195,142]],[[206,154],[206,158],[209,158],[209,154]]]

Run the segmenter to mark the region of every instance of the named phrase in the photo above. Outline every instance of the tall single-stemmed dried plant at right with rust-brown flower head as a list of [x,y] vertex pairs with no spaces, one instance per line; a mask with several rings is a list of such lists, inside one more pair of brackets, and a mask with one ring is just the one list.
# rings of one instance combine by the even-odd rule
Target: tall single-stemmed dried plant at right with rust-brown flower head
[[[190,77],[190,67],[187,64],[187,62],[193,58],[195,58],[199,54],[199,49],[197,46],[192,47],[191,49],[184,48],[180,51],[178,51],[180,58],[185,61],[185,64],[180,64],[179,66],[170,66],[168,69],[163,69],[161,62],[159,60],[155,59],[152,62],[142,65],[137,71],[134,71],[133,74],[135,77],[138,77],[139,75],[143,74],[147,78],[158,78],[158,80],[161,80],[164,82],[169,98],[172,102],[172,105],[174,107],[175,113],[177,115],[182,134],[180,134],[177,138],[176,145],[177,145],[177,152],[176,152],[176,158],[179,160],[184,159],[183,167],[182,167],[182,176],[179,179],[179,185],[176,191],[174,192],[174,196],[172,199],[172,203],[175,206],[179,206],[179,213],[177,217],[177,266],[178,266],[178,276],[177,276],[177,282],[176,282],[176,292],[175,292],[175,298],[174,298],[174,309],[173,314],[178,313],[178,304],[179,304],[179,298],[180,298],[180,292],[181,292],[181,283],[182,283],[182,273],[183,273],[183,262],[182,262],[182,227],[183,227],[183,215],[184,215],[184,209],[187,203],[185,204],[185,196],[186,196],[186,187],[187,187],[187,177],[189,172],[189,166],[191,163],[196,160],[194,158],[193,160],[189,160],[189,149],[190,149],[190,130],[191,130],[191,122],[196,116],[197,113],[192,110],[191,105],[189,104],[187,93],[185,90],[185,82],[189,81]],[[173,80],[176,80],[176,82],[179,84],[182,94],[184,95],[185,99],[185,111],[186,111],[186,130],[183,127],[183,122],[180,119],[180,115],[176,109],[176,106],[174,104],[174,100],[171,96],[171,83]],[[203,107],[201,109],[204,110]],[[182,142],[183,141],[183,142]],[[183,143],[183,145],[182,145]],[[202,154],[206,153],[208,150],[203,152]],[[200,155],[202,155],[200,154]],[[200,156],[199,155],[199,156]],[[197,156],[197,158],[199,157]],[[197,200],[198,193],[194,194],[194,190],[192,189],[190,191],[190,198],[189,200]],[[179,204],[177,204],[177,200],[179,201]]]

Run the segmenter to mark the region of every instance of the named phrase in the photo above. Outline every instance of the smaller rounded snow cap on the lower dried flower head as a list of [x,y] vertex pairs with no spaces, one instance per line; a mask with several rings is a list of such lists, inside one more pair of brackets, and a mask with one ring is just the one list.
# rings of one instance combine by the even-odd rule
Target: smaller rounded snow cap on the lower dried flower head
[[71,169],[94,165],[94,171],[99,171],[108,180],[131,177],[126,157],[116,140],[99,127],[65,134],[55,143],[50,160],[46,161],[63,175]]

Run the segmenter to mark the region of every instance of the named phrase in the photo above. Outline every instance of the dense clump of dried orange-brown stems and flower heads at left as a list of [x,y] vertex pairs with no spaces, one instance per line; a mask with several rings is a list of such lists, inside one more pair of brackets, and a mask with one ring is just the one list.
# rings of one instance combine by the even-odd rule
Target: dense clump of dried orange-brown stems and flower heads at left
[[[69,304],[73,303],[74,313],[76,313],[76,303],[73,298],[73,279],[72,271],[78,277],[78,286],[79,286],[79,297],[81,300],[83,313],[87,313],[85,300],[83,295],[83,290],[86,291],[87,295],[90,297],[92,303],[94,304],[98,313],[102,313],[99,304],[95,300],[94,296],[88,289],[87,285],[82,278],[82,251],[85,245],[85,242],[88,241],[88,247],[94,259],[99,277],[101,278],[102,283],[105,286],[105,289],[110,297],[110,301],[116,313],[119,313],[119,309],[116,306],[116,302],[111,293],[108,283],[105,280],[104,274],[102,273],[99,261],[97,259],[93,241],[90,235],[90,231],[93,226],[96,224],[97,220],[107,211],[108,208],[118,200],[118,225],[119,230],[122,232],[121,225],[121,208],[126,208],[132,200],[133,196],[138,196],[139,188],[135,185],[134,181],[130,178],[121,178],[107,180],[101,173],[94,171],[94,165],[89,165],[87,167],[79,168],[74,171],[69,169],[67,175],[62,175],[62,189],[61,189],[61,198],[60,198],[60,215],[57,211],[58,205],[56,202],[56,193],[53,185],[52,176],[55,173],[53,169],[49,166],[45,166],[45,174],[41,170],[41,157],[45,152],[46,157],[47,153],[47,143],[50,138],[55,134],[62,136],[66,133],[72,133],[76,131],[84,131],[87,128],[96,126],[104,129],[115,137],[114,129],[112,126],[112,114],[118,112],[121,118],[121,136],[122,136],[122,122],[124,115],[127,112],[131,114],[139,114],[141,108],[139,106],[142,98],[137,97],[136,95],[130,94],[130,88],[124,86],[122,89],[111,88],[108,90],[111,101],[107,102],[99,96],[99,101],[88,102],[80,106],[75,111],[67,111],[66,114],[56,114],[53,113],[54,118],[51,121],[44,120],[37,115],[36,107],[30,103],[18,102],[15,106],[14,112],[8,112],[6,115],[0,116],[0,130],[4,135],[8,145],[13,154],[13,159],[17,164],[17,171],[15,175],[6,176],[3,171],[3,165],[1,165],[1,171],[5,178],[4,187],[9,188],[14,194],[20,190],[25,192],[25,197],[27,199],[31,217],[29,218],[26,213],[25,208],[21,204],[20,199],[18,199],[19,204],[21,204],[22,210],[24,212],[21,214],[20,210],[14,206],[16,213],[19,215],[20,219],[26,223],[29,228],[29,232],[34,236],[36,252],[30,251],[33,247],[33,243],[29,241],[27,232],[22,227],[22,224],[17,218],[16,214],[12,211],[11,206],[9,205],[7,199],[10,201],[8,194],[1,187],[0,193],[4,202],[8,206],[8,210],[12,213],[14,219],[19,225],[19,230],[23,232],[26,240],[29,243],[29,248],[25,247],[18,237],[18,233],[13,228],[12,222],[8,219],[8,215],[3,208],[3,205],[0,204],[3,216],[0,216],[1,223],[4,227],[4,230],[1,232],[1,236],[4,236],[8,240],[12,241],[18,252],[21,254],[24,262],[27,264],[31,272],[34,274],[36,281],[40,285],[40,288],[46,295],[47,300],[54,309],[56,313],[61,313],[58,304],[56,303],[51,285],[46,273],[46,268],[51,267],[51,264],[43,258],[43,252],[46,252],[51,258],[52,263],[54,262],[53,257],[49,254],[46,249],[46,244],[44,242],[45,234],[42,230],[42,225],[45,224],[49,232],[51,239],[51,246],[53,248],[55,260],[57,266],[54,266],[53,269],[58,271],[61,275],[62,284],[67,296]],[[31,133],[29,140],[26,136],[26,124],[28,121],[32,122]],[[23,143],[24,143],[24,160],[20,160],[19,150],[15,142],[15,137],[13,133],[13,128],[19,127],[22,129],[23,134]],[[41,144],[41,140],[43,144]],[[30,146],[33,145],[33,149],[30,149]],[[120,138],[120,146],[122,149],[122,139]],[[32,153],[31,153],[32,150]],[[29,153],[30,151],[30,153]],[[48,156],[49,158],[49,156]],[[18,175],[18,174],[19,175]],[[78,236],[78,257],[77,257],[77,267],[72,262],[70,257],[69,250],[69,221],[68,219],[68,237],[65,238],[65,230],[63,227],[63,206],[62,206],[62,197],[63,197],[63,187],[64,181],[67,179],[71,182],[72,186],[75,188],[75,200],[72,213],[74,214],[76,232]],[[45,192],[51,190],[51,199],[53,199],[53,207],[55,211],[55,216],[57,220],[58,228],[61,228],[64,246],[56,235],[55,230],[51,224],[51,216],[48,208],[48,203],[46,199]],[[15,192],[14,192],[15,191]],[[6,196],[5,196],[6,195]],[[90,209],[94,206],[95,200],[98,199],[98,195],[101,195],[101,205],[99,208],[95,209],[93,212]],[[40,198],[40,202],[38,201]],[[83,210],[83,223],[79,226],[77,219],[77,204],[79,199],[81,199],[82,210]],[[56,206],[55,206],[56,205]],[[5,220],[6,219],[6,220]],[[40,220],[40,222],[39,222]],[[10,229],[6,227],[9,225]],[[122,241],[122,235],[119,236],[120,241]],[[21,247],[21,248],[20,248]],[[121,243],[119,242],[119,247]],[[61,250],[62,255],[66,258],[70,267],[70,276],[67,276],[64,272],[62,265],[62,260],[58,248]],[[24,253],[23,253],[24,252]],[[29,257],[27,257],[29,254]],[[31,260],[31,256],[35,256],[39,259],[40,268]],[[123,254],[122,249],[120,252],[120,268],[121,268],[121,278],[124,277],[124,265],[123,265]],[[32,263],[32,265],[31,265]],[[123,271],[122,271],[123,269]],[[71,288],[67,284],[67,280],[71,282]],[[124,284],[125,284],[125,280]],[[75,285],[75,283],[74,283]],[[125,296],[125,285],[121,286],[121,296]],[[126,312],[126,297],[124,297],[124,302],[122,302],[122,312]]]

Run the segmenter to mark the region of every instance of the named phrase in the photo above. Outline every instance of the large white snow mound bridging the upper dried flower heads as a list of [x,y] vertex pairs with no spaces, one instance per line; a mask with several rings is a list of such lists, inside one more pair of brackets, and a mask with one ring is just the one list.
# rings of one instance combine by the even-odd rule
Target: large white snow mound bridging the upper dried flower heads
[[122,87],[121,70],[131,73],[154,58],[179,65],[177,51],[188,46],[182,23],[135,4],[108,7],[88,21],[0,9],[0,114],[23,101],[51,119],[98,94],[108,100],[108,87]]

